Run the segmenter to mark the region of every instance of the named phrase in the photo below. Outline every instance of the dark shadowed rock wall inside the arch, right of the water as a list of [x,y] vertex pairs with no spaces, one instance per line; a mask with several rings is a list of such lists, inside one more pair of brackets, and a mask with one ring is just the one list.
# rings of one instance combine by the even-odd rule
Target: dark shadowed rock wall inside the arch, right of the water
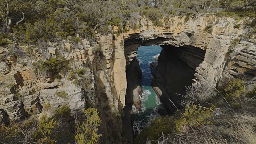
[[168,112],[173,114],[176,108],[182,108],[178,102],[186,94],[186,87],[193,83],[205,51],[194,47],[162,47],[158,61],[150,64],[154,76],[151,85]]

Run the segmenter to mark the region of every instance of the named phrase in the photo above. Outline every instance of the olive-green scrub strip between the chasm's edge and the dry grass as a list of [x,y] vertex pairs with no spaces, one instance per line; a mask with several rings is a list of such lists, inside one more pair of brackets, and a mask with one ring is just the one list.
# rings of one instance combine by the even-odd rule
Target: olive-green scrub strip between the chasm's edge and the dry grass
[[212,125],[214,115],[211,111],[212,108],[187,104],[184,112],[180,111],[180,113],[177,112],[174,116],[154,119],[150,123],[150,126],[142,129],[140,134],[135,138],[135,143],[145,144],[147,140],[155,140],[157,143],[157,140],[163,135],[168,135],[170,139],[173,139],[175,134],[191,132],[204,125]]

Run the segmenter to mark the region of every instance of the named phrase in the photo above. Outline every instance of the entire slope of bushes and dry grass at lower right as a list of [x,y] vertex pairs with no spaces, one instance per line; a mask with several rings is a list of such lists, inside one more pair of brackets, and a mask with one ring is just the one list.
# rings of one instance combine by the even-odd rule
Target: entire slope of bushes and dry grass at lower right
[[256,86],[252,90],[247,86],[234,79],[219,90],[210,84],[187,88],[184,109],[153,120],[135,143],[256,143]]

